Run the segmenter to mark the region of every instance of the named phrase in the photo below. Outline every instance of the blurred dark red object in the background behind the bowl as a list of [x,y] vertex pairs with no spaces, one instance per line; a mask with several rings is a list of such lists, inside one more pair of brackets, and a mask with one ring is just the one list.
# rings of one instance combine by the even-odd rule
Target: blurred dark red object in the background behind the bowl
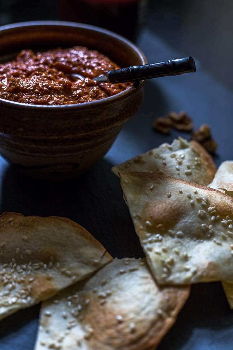
[[60,0],[60,19],[87,23],[135,41],[146,18],[148,0]]

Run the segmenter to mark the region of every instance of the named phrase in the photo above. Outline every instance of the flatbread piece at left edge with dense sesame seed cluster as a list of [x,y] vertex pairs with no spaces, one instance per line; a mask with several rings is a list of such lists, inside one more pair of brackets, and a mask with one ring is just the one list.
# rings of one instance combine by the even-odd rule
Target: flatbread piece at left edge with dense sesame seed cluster
[[0,320],[111,261],[82,226],[62,217],[0,215]]

